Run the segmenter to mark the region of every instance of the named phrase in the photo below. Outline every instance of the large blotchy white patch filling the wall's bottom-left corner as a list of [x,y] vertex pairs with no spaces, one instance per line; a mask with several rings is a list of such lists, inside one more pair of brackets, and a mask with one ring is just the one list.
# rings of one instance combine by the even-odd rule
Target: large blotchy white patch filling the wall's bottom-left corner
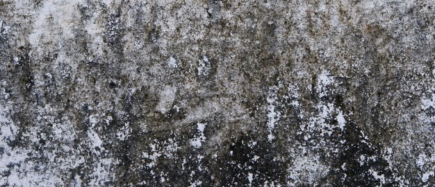
[[[8,102],[0,101],[0,173],[8,173],[6,177],[0,177],[0,186],[62,186],[65,181],[62,179],[62,173],[66,170],[72,170],[84,162],[83,157],[78,157],[74,152],[68,154],[67,157],[59,157],[65,152],[72,150],[70,144],[74,138],[74,132],[69,127],[72,125],[67,118],[62,118],[63,125],[59,125],[58,119],[55,120],[51,114],[56,113],[56,110],[49,105],[38,108],[38,116],[40,120],[49,121],[53,124],[54,132],[62,131],[63,134],[49,135],[41,131],[41,126],[36,125],[29,127],[28,131],[22,132],[22,137],[31,143],[39,143],[40,139],[47,141],[47,137],[59,140],[56,144],[57,149],[44,150],[44,163],[47,166],[41,166],[39,161],[35,161],[37,152],[33,148],[11,148],[8,141],[15,139],[19,128],[11,120],[11,105]],[[35,119],[38,121],[38,119]],[[40,121],[38,121],[40,122]],[[38,138],[40,137],[40,139]],[[13,167],[10,167],[13,166]],[[17,167],[19,166],[19,167]],[[38,166],[40,170],[35,170]],[[43,172],[41,172],[43,171]]]

